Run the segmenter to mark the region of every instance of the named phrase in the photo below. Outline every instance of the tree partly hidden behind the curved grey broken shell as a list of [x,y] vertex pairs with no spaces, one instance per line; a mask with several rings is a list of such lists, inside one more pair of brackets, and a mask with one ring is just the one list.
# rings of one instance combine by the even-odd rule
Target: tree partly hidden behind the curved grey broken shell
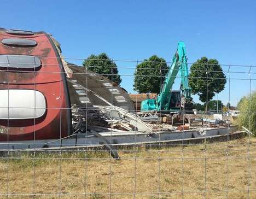
[[104,77],[112,80],[114,83],[120,85],[121,78],[118,74],[118,68],[115,62],[110,60],[106,53],[101,53],[99,55],[90,55],[83,62],[83,66],[88,67],[88,70],[102,74]]

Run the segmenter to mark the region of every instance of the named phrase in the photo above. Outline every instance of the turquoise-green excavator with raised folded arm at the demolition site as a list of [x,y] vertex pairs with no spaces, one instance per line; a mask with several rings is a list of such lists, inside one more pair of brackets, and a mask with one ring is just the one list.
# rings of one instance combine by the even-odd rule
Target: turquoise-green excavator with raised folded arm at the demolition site
[[[190,113],[193,111],[191,88],[188,84],[188,63],[184,42],[178,43],[178,49],[172,58],[161,92],[156,99],[146,99],[141,102],[141,111],[156,110],[166,114]],[[181,74],[181,89],[173,91],[172,86],[178,72]]]

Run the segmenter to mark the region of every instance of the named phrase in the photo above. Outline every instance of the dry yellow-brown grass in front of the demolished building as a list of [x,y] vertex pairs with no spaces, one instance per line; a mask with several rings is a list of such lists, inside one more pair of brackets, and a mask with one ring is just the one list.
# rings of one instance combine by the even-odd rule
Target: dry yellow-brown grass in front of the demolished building
[[181,198],[182,192],[184,198],[256,198],[255,138],[119,155],[121,160],[98,151],[1,160],[0,197],[9,189],[9,198],[33,198],[33,192],[35,198],[59,198],[60,192],[61,198],[85,198],[85,192],[86,198],[109,198],[109,192],[111,198],[133,198],[134,192],[136,198]]

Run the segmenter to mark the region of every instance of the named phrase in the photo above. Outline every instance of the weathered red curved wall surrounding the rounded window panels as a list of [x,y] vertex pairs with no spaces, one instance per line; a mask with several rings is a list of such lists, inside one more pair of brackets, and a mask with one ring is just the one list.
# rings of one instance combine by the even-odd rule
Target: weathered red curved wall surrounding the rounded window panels
[[[46,113],[36,120],[0,120],[0,141],[23,141],[32,139],[59,139],[68,135],[69,103],[63,82],[59,56],[45,33],[33,36],[15,36],[0,31],[3,38],[29,38],[36,40],[33,48],[19,48],[0,44],[0,54],[38,56],[42,66],[37,71],[0,70],[0,89],[31,89],[43,93]],[[22,96],[17,96],[22,97]]]

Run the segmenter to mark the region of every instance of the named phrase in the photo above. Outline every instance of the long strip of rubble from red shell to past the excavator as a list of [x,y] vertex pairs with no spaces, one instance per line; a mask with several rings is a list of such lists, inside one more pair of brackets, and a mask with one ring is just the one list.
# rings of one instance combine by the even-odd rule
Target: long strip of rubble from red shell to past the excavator
[[[150,116],[152,117],[152,116]],[[231,125],[229,121],[219,119],[202,118],[198,125],[190,124],[183,121],[182,125],[173,126],[158,120],[142,120],[142,118],[134,113],[129,113],[127,110],[113,106],[94,106],[93,109],[77,108],[73,114],[74,128],[79,133],[85,132],[127,132],[138,131],[143,133],[152,133],[156,131],[185,131],[199,130],[200,133],[205,132],[207,127],[225,127]]]

